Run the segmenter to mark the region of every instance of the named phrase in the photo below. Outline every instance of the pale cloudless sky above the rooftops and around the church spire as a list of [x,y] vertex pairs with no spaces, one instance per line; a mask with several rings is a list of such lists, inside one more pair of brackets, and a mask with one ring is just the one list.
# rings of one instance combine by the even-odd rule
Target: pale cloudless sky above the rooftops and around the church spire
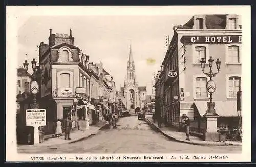
[[[190,18],[190,15],[31,16],[19,22],[18,66],[23,66],[24,60],[31,65],[32,58],[38,61],[37,45],[48,43],[50,28],[52,33],[66,34],[71,28],[75,46],[89,55],[90,62],[102,61],[103,68],[114,77],[117,90],[123,86],[131,44],[137,82],[139,86],[147,86],[150,94],[153,74],[160,69],[167,50],[166,35],[172,38],[173,26],[184,25]],[[148,64],[148,59],[155,63]]]

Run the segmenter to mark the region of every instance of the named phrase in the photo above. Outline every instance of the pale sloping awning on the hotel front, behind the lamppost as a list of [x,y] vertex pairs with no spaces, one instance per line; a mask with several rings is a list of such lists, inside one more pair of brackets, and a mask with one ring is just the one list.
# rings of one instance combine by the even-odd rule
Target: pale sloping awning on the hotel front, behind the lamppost
[[[214,102],[215,102],[215,112],[220,117],[238,117],[236,101],[214,101]],[[200,116],[203,117],[203,115],[206,113],[207,101],[195,101],[194,104],[197,107]]]

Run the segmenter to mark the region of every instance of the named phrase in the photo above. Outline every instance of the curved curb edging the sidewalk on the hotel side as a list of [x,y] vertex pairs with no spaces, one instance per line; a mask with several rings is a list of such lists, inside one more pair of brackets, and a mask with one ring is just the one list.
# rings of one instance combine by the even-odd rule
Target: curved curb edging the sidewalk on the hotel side
[[239,144],[232,144],[232,143],[219,143],[219,144],[213,144],[213,143],[199,143],[199,142],[193,142],[193,141],[183,141],[183,140],[178,140],[177,138],[173,137],[173,136],[169,136],[167,134],[165,134],[160,128],[158,128],[156,125],[154,125],[150,120],[146,119],[146,122],[152,127],[154,126],[155,129],[157,129],[157,131],[159,131],[160,133],[162,133],[165,137],[169,138],[170,140],[176,141],[176,142],[180,142],[180,143],[187,143],[187,144],[191,144],[191,145],[201,145],[201,146],[241,146]]

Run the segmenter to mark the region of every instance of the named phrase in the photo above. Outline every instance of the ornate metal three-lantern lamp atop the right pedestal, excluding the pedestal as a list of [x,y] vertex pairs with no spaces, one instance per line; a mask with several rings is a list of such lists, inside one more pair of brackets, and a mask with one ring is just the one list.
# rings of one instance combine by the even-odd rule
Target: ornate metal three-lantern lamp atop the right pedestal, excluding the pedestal
[[217,61],[215,62],[217,70],[218,70],[216,73],[212,72],[212,65],[213,65],[214,59],[212,59],[212,57],[210,57],[208,59],[208,62],[209,62],[210,71],[208,73],[206,73],[206,72],[204,72],[205,63],[206,63],[205,58],[202,58],[200,61],[203,73],[210,78],[210,80],[207,82],[207,85],[206,85],[207,91],[210,93],[210,101],[207,102],[208,108],[207,108],[206,114],[216,115],[215,109],[214,109],[215,103],[212,102],[212,93],[214,93],[214,91],[216,89],[216,85],[215,85],[215,82],[211,78],[215,77],[220,72],[221,61],[219,58],[217,58]]

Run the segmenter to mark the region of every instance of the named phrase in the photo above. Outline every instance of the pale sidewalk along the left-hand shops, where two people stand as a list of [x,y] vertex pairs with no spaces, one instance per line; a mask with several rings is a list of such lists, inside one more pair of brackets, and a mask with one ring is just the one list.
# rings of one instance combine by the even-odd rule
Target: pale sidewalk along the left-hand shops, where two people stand
[[[91,135],[97,134],[101,128],[105,126],[104,122],[98,122],[95,125],[91,125],[89,129],[81,129],[81,130],[72,130],[70,132],[71,140],[64,140],[64,133],[59,138],[50,137],[48,139],[45,138],[45,141],[35,145],[18,145],[18,149],[28,148],[28,147],[51,147],[53,145],[66,144],[66,143],[74,143],[85,138],[90,137]],[[49,135],[52,136],[52,135]]]

